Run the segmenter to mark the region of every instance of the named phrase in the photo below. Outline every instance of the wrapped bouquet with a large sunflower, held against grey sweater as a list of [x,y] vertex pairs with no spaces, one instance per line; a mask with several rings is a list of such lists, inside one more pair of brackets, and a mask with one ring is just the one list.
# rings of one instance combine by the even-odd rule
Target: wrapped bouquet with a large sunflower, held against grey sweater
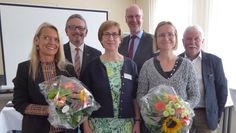
[[141,98],[141,115],[153,133],[187,132],[194,116],[189,104],[176,95],[173,87],[160,85]]

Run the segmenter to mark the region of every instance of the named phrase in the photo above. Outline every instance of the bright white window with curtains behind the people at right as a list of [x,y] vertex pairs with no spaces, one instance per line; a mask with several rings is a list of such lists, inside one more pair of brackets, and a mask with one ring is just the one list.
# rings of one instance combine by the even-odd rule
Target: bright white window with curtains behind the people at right
[[193,24],[203,28],[205,44],[203,49],[223,59],[230,88],[236,89],[235,0],[150,0],[149,31],[154,32],[160,21],[171,21],[178,30],[179,48],[184,51],[182,35],[184,29]]

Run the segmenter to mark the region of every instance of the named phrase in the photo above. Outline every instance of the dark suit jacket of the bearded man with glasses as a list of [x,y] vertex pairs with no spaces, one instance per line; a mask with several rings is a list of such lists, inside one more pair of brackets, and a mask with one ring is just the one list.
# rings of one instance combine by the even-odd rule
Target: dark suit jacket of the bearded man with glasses
[[[65,53],[66,59],[72,63],[69,42],[64,44],[64,53]],[[99,57],[100,55],[101,55],[101,52],[99,50],[92,48],[88,45],[84,45],[83,60],[82,60],[82,67],[81,67],[80,75],[84,73],[84,69],[88,65],[88,63],[92,61],[93,59],[95,59],[96,57]]]

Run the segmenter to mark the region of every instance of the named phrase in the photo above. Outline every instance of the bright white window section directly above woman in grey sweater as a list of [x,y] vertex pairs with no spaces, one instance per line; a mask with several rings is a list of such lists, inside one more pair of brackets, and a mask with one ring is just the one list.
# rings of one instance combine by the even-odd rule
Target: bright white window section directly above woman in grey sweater
[[171,21],[178,31],[177,54],[183,52],[182,35],[184,29],[192,23],[191,0],[150,0],[149,31],[153,34],[157,24],[161,21]]

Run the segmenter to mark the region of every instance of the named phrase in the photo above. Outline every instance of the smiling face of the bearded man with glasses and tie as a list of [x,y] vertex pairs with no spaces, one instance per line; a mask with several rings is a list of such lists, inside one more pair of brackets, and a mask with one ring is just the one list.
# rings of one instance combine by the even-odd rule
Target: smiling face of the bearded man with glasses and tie
[[76,46],[83,44],[84,38],[87,36],[86,24],[79,18],[69,19],[65,31],[70,42]]

